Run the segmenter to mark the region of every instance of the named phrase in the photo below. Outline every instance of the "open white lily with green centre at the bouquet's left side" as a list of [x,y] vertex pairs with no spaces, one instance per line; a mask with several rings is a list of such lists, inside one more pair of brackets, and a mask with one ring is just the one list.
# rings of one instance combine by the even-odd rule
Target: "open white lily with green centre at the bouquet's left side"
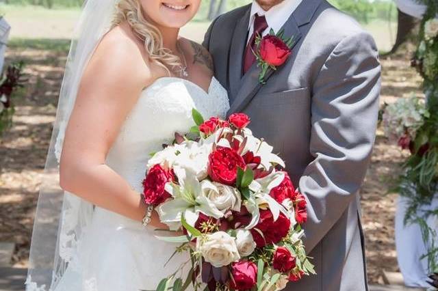
[[209,217],[220,219],[224,216],[216,206],[202,193],[201,183],[196,179],[196,175],[187,169],[175,167],[175,175],[179,184],[169,182],[166,184],[166,191],[172,195],[173,199],[160,204],[156,209],[160,221],[166,223],[170,230],[177,230],[181,227],[181,216],[188,223],[194,226],[198,219],[199,212],[203,212]]

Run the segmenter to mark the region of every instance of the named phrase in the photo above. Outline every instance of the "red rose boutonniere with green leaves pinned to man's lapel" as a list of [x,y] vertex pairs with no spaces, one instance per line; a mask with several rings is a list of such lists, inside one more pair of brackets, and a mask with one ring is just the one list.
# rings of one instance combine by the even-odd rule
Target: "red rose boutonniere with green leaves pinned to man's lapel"
[[268,70],[276,70],[283,65],[292,53],[292,42],[294,37],[285,39],[283,29],[278,33],[270,29],[266,36],[255,38],[256,51],[253,51],[257,66],[261,68],[259,74],[259,82],[266,83],[265,76]]

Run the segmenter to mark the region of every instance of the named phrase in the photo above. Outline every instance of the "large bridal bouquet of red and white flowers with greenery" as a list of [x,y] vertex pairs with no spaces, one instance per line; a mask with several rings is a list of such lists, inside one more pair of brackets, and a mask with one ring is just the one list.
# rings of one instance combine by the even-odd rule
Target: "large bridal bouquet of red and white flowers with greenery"
[[153,154],[143,180],[145,202],[184,234],[157,238],[190,253],[187,277],[177,275],[180,266],[157,290],[281,290],[315,273],[301,240],[306,200],[283,160],[253,136],[243,113],[227,121],[192,115],[196,126]]

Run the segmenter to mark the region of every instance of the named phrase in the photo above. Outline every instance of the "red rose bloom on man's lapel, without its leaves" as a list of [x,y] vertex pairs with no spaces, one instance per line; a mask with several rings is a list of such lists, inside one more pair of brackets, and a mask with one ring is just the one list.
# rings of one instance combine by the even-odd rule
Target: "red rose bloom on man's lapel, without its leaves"
[[292,53],[290,48],[276,36],[264,36],[260,42],[260,57],[271,66],[281,66]]

